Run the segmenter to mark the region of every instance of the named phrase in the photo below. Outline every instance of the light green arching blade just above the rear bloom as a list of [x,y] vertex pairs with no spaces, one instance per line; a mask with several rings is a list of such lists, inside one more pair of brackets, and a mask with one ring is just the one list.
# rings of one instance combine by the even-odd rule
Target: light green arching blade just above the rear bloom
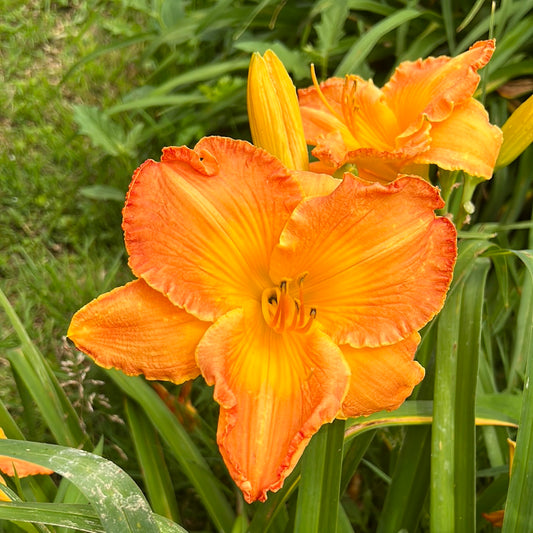
[[335,76],[345,76],[346,74],[356,74],[359,67],[368,57],[368,54],[376,46],[376,43],[385,35],[395,30],[398,26],[409,22],[420,16],[420,11],[416,9],[400,9],[393,15],[383,19],[368,30],[355,44],[348,50],[340,65],[335,70]]

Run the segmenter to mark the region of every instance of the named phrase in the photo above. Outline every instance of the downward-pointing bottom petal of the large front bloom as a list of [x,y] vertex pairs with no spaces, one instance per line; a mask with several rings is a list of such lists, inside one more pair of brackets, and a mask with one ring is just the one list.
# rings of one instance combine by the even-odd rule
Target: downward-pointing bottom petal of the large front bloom
[[290,474],[311,436],[338,414],[349,371],[316,328],[277,334],[259,305],[222,316],[198,346],[220,404],[220,451],[247,502],[264,501]]

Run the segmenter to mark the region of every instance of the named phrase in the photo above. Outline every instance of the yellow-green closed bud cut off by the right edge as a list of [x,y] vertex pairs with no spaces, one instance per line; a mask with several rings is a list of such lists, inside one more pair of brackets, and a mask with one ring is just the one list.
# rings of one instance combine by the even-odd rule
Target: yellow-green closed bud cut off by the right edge
[[496,167],[512,163],[533,141],[533,95],[507,119],[502,127],[503,144]]

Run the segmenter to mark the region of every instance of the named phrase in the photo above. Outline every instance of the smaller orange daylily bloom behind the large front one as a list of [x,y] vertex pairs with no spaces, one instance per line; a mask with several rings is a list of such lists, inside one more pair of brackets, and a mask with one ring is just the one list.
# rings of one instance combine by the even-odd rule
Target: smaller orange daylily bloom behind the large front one
[[359,176],[391,181],[433,163],[490,178],[502,134],[473,95],[493,51],[493,40],[480,41],[455,58],[403,62],[382,89],[358,76],[315,80],[299,91],[319,159],[312,168],[334,173],[352,164]]

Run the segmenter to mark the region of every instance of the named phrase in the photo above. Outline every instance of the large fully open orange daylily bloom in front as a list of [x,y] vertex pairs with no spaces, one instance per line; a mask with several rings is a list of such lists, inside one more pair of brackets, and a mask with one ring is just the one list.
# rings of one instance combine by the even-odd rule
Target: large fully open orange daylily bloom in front
[[123,211],[137,279],[78,311],[68,336],[126,374],[201,374],[228,470],[264,501],[322,424],[395,409],[423,378],[417,331],[456,256],[442,204],[416,177],[289,171],[244,141],[165,148]]

